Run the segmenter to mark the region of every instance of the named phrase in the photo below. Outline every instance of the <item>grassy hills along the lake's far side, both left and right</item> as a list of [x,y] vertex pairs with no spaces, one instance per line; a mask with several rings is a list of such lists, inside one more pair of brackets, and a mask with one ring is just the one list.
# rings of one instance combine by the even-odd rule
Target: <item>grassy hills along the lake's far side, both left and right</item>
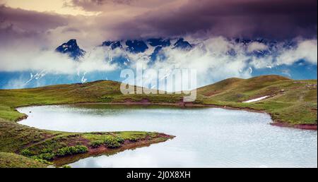
[[[20,106],[79,102],[182,102],[183,95],[122,95],[120,83],[95,81],[84,84],[52,85],[22,90],[0,90],[0,118],[15,121],[23,114]],[[197,90],[194,104],[213,104],[266,111],[274,121],[317,124],[317,80],[291,80],[279,75],[230,78]],[[244,103],[259,97],[258,102]]]

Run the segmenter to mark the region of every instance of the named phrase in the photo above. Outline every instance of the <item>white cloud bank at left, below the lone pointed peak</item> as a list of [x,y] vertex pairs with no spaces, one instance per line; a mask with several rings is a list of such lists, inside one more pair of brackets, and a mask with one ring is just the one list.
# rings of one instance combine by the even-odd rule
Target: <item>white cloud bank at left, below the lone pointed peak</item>
[[16,45],[14,51],[0,49],[0,71],[45,71],[52,74],[76,74],[93,71],[112,71],[114,66],[105,60],[107,51],[97,47],[80,61],[52,50],[38,49],[36,45]]

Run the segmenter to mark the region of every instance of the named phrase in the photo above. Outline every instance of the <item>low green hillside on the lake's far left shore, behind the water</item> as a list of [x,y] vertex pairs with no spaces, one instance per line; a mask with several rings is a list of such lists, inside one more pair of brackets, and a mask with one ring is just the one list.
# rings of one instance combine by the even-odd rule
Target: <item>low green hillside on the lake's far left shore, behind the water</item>
[[53,85],[32,89],[0,90],[0,119],[16,121],[23,114],[16,107],[42,104],[73,104],[81,102],[178,102],[181,95],[122,95],[120,83],[95,81],[85,84]]

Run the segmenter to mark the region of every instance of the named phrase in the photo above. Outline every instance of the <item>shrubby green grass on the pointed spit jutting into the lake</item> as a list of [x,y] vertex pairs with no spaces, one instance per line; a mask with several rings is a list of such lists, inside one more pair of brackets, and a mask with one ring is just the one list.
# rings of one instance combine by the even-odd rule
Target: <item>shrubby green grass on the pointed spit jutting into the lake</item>
[[[122,137],[123,136],[123,137]],[[113,149],[120,148],[125,142],[131,142],[131,138],[138,141],[164,142],[171,138],[170,135],[148,132],[103,132],[103,133],[61,133],[53,137],[33,142],[23,146],[23,150],[16,151],[25,157],[41,160],[42,162],[54,162],[57,157],[65,157],[73,154],[83,154],[98,147]],[[96,141],[102,141],[96,145]],[[92,145],[94,143],[95,145]],[[112,151],[109,151],[110,153]]]

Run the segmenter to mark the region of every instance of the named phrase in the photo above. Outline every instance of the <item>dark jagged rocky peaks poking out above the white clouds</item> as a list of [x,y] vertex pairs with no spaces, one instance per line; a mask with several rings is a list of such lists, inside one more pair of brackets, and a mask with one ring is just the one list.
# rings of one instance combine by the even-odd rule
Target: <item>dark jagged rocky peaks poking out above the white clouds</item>
[[[285,41],[283,43],[277,42],[274,40],[266,40],[263,38],[258,38],[255,40],[249,39],[232,39],[229,40],[233,44],[242,44],[245,47],[245,55],[246,56],[257,56],[257,57],[264,57],[264,56],[276,56],[278,55],[281,48],[283,49],[293,49],[297,46],[297,42],[293,40]],[[253,42],[257,42],[259,44],[266,45],[266,48],[263,49],[255,49],[249,51],[248,47]],[[122,51],[127,51],[131,54],[141,54],[148,52],[148,56],[151,61],[155,61],[155,59],[162,58],[160,57],[160,52],[164,47],[169,47],[170,49],[181,49],[183,51],[190,51],[192,48],[204,45],[201,42],[190,43],[184,38],[174,38],[174,39],[163,39],[163,38],[149,38],[146,40],[115,40],[110,41],[107,40],[102,42],[99,45],[100,47],[106,47],[109,50],[120,49]],[[76,40],[69,40],[69,42],[61,44],[57,47],[56,51],[62,54],[69,54],[69,56],[73,59],[80,59],[83,57],[87,52],[78,47]],[[237,52],[234,49],[230,49],[227,54],[229,56],[237,56]]]

